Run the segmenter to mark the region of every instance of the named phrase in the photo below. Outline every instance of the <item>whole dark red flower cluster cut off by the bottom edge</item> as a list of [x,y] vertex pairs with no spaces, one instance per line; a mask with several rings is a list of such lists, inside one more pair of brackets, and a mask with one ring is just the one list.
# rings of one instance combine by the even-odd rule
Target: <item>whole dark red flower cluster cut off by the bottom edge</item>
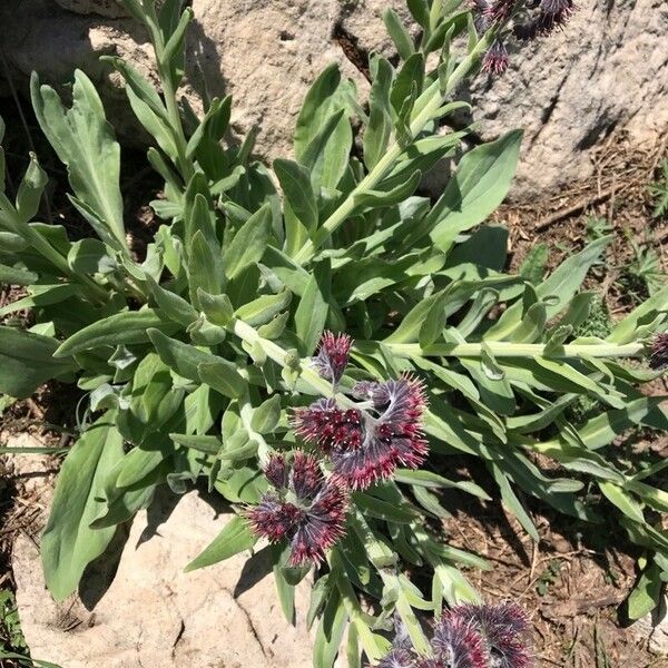
[[531,668],[529,619],[515,603],[456,606],[434,627],[431,656],[400,642],[377,668]]

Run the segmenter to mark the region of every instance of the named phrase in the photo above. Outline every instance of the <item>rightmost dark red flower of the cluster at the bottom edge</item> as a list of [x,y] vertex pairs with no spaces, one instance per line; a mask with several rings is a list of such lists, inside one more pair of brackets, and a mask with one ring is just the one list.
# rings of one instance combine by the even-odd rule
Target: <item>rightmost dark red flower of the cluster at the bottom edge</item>
[[488,647],[491,666],[533,666],[533,658],[523,638],[529,630],[529,618],[517,603],[508,601],[497,606],[458,606],[444,615],[444,620],[448,619],[459,619],[459,623],[477,629]]

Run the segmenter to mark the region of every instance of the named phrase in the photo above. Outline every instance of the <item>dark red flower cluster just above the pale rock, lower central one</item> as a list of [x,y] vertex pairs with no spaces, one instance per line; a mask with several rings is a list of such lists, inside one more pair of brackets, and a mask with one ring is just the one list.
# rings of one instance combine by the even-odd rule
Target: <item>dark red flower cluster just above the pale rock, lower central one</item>
[[292,466],[273,455],[265,474],[275,491],[247,509],[253,530],[271,542],[287,540],[291,566],[318,563],[345,533],[347,498],[334,479],[325,480],[312,454],[297,451]]

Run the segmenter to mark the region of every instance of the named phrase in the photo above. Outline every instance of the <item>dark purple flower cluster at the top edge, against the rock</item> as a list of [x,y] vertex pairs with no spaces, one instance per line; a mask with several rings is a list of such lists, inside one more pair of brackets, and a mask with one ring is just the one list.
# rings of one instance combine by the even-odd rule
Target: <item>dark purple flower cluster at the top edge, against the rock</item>
[[[485,32],[492,27],[503,28],[512,20],[512,32],[517,39],[532,40],[550,35],[563,27],[573,14],[573,0],[471,0],[475,28]],[[487,72],[499,75],[509,62],[504,38],[499,37],[484,55],[482,67]]]

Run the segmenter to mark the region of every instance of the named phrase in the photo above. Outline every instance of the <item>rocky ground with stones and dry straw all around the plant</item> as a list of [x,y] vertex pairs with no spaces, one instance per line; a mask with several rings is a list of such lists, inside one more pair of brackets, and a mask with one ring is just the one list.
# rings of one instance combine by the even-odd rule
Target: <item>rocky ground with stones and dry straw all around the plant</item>
[[[365,90],[369,52],[380,50],[392,56],[380,20],[389,3],[382,0],[193,0],[191,4],[196,24],[184,94],[196,106],[204,80],[210,94],[234,94],[235,131],[239,135],[257,126],[258,148],[265,158],[289,153],[301,99],[326,62],[340,60],[345,73]],[[404,1],[390,4],[403,8]],[[647,296],[648,276],[665,281],[662,273],[668,271],[666,218],[652,217],[647,191],[668,157],[662,131],[668,125],[668,66],[661,40],[666,24],[668,6],[661,0],[582,1],[568,30],[515,53],[504,77],[479,79],[462,91],[475,102],[475,114],[461,122],[479,120],[480,138],[518,126],[525,128],[513,202],[495,214],[495,220],[510,230],[511,267],[519,268],[531,249],[544,243],[549,247],[548,271],[588,239],[612,234],[606,262],[590,277],[592,287],[602,288],[611,318]],[[75,67],[81,67],[104,90],[121,138],[132,135],[136,140],[118,81],[109,78],[98,61],[102,53],[115,53],[150,71],[145,36],[124,16],[117,0],[4,0],[0,26],[0,92],[24,90],[32,69],[62,82]],[[19,173],[22,156],[37,144],[56,188],[52,215],[67,222],[77,236],[62,188],[57,188],[65,175],[49,163],[29,114],[26,111],[27,124],[22,126],[16,102],[6,99],[0,101],[0,115],[16,121],[10,122],[4,141],[14,173]],[[124,183],[126,216],[135,222],[132,246],[139,256],[156,223],[145,203],[159,188],[141,155],[131,146],[124,148],[130,167],[126,174],[132,175]],[[0,303],[16,297],[6,289],[0,293]],[[29,318],[29,314],[19,317]],[[666,393],[668,387],[661,384],[651,391]],[[78,399],[69,390],[49,385],[32,400],[0,406],[0,448],[16,434],[35,439],[40,445],[66,448],[76,424]],[[635,433],[623,446],[639,455],[647,449],[668,455],[662,434]],[[246,576],[240,563],[232,564],[230,570],[202,571],[198,593],[193,597],[179,574],[180,567],[224,521],[220,509],[195,493],[171,513],[167,504],[161,519],[141,517],[135,523],[126,552],[112,564],[121,576],[109,590],[112,600],[102,599],[96,611],[86,607],[92,600],[86,596],[58,609],[45,602],[36,546],[58,455],[26,458],[17,468],[0,456],[0,648],[11,642],[22,649],[20,631],[10,615],[13,603],[2,598],[3,592],[11,596],[19,584],[19,603],[26,610],[33,656],[56,662],[61,659],[62,668],[76,668],[76,662],[62,659],[76,656],[75,647],[89,652],[79,652],[85,657],[80,665],[106,668],[99,659],[104,650],[96,645],[100,638],[111,638],[119,646],[117,655],[107,657],[116,661],[109,666],[153,666],[137,649],[139,637],[150,639],[147,647],[156,648],[161,667],[206,666],[206,645],[198,645],[206,642],[222,652],[232,651],[225,655],[229,666],[254,668],[248,657],[261,661],[258,668],[308,665],[308,636],[303,626],[291,630],[282,622],[267,578],[242,592],[239,581]],[[468,465],[462,462],[462,470],[480,484],[490,482],[483,471]],[[541,536],[538,544],[523,536],[501,504],[472,507],[470,499],[454,494],[443,500],[452,510],[443,530],[453,544],[480,552],[494,563],[491,572],[469,573],[490,600],[512,596],[531,612],[538,665],[668,666],[666,654],[660,654],[668,651],[661,631],[651,633],[649,622],[625,626],[622,602],[636,577],[637,556],[625,537],[615,527],[601,533],[566,524],[547,507],[527,502]],[[155,536],[145,541],[149,527]],[[191,531],[186,539],[180,534],[183,527]],[[184,544],[177,549],[179,541]],[[141,559],[144,570],[154,573],[154,584],[165,595],[159,601],[155,591],[137,580],[138,562],[134,559]],[[16,572],[12,562],[21,564]],[[261,567],[258,572],[264,574]],[[247,577],[245,582],[242,590],[249,586]],[[168,586],[170,591],[164,589]],[[160,610],[163,599],[170,600],[168,610],[163,610],[166,617],[150,607],[153,602],[155,610]],[[303,615],[305,601],[299,606]],[[194,607],[209,612],[197,615]],[[124,626],[127,620],[132,620],[129,632]],[[238,632],[232,650],[226,647],[223,627]],[[283,640],[276,644],[277,637],[287,639],[292,654],[285,654]],[[304,655],[294,654],[302,650]],[[9,660],[0,659],[0,665],[13,667]]]

